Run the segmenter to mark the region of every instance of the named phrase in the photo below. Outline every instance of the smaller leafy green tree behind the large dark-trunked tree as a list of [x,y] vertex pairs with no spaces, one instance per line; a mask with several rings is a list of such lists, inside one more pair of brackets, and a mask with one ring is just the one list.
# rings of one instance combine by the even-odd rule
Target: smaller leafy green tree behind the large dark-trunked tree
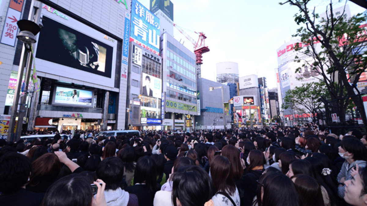
[[302,84],[301,87],[295,87],[286,92],[281,107],[300,111],[301,115],[308,111],[312,114],[313,122],[316,122],[317,110],[322,107],[322,102],[319,101],[322,95],[325,95],[325,84],[323,82]]

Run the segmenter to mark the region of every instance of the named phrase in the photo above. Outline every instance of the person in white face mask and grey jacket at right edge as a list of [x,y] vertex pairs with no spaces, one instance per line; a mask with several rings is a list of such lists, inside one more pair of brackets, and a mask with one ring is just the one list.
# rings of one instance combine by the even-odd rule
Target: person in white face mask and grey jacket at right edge
[[340,198],[344,198],[346,187],[345,181],[353,179],[350,174],[351,170],[356,166],[356,164],[358,164],[360,168],[366,167],[367,150],[359,140],[353,138],[343,139],[338,150],[340,157],[345,159],[337,176],[339,184],[338,195]]

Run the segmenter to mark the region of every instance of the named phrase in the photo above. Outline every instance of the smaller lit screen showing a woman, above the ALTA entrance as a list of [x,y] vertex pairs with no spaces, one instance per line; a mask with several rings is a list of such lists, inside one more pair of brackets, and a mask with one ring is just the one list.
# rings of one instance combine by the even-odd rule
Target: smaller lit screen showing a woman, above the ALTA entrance
[[56,87],[54,103],[92,106],[92,97],[92,91],[67,87]]

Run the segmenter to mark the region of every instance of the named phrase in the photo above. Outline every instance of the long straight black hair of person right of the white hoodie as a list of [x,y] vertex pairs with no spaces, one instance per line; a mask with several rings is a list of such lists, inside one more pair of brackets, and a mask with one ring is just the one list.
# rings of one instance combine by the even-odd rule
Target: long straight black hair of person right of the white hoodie
[[134,172],[134,184],[137,183],[145,183],[153,195],[157,190],[156,164],[149,156],[138,159]]

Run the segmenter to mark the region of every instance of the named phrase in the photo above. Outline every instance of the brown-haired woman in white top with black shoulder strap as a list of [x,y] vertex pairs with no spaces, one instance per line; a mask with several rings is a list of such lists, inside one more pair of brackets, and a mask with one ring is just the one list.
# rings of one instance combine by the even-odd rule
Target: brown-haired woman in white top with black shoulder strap
[[[233,180],[233,169],[228,158],[216,155],[210,163],[214,205],[240,206],[240,195]],[[234,204],[233,204],[234,203]]]

